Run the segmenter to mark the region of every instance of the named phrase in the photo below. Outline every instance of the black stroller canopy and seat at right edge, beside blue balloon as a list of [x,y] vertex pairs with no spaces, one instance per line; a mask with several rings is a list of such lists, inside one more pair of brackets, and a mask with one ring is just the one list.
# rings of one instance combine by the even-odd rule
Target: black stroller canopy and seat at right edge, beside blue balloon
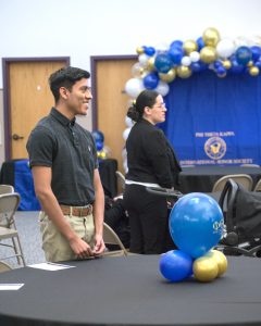
[[[220,197],[226,235],[223,244],[238,246],[248,242],[248,253],[261,250],[261,192],[246,190],[228,179]],[[241,253],[247,253],[241,250]]]

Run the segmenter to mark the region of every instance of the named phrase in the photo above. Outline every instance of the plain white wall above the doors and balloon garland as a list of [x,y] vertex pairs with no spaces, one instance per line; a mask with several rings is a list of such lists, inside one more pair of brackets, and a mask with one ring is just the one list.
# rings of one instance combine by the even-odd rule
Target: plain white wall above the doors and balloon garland
[[89,70],[90,55],[135,54],[208,27],[222,38],[261,35],[260,12],[260,0],[1,0],[0,58],[69,55]]

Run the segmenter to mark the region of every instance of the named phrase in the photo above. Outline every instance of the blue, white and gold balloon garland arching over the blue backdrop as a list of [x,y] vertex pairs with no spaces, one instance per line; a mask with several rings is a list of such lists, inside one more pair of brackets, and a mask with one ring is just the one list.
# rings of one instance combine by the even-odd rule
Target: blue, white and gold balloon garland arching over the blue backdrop
[[210,70],[217,77],[227,74],[258,76],[261,68],[261,37],[222,38],[214,27],[208,27],[197,39],[174,40],[158,47],[137,47],[138,62],[132,67],[132,78],[125,91],[136,98],[144,89],[156,89],[163,97],[176,78]]

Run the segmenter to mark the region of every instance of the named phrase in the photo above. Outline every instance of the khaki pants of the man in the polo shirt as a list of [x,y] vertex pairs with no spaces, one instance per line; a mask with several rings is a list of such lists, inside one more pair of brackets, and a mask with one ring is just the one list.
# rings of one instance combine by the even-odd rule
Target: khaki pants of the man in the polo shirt
[[[92,214],[88,216],[64,215],[72,229],[91,248],[95,246],[95,224]],[[77,256],[69,244],[67,239],[58,230],[45,212],[39,213],[42,249],[48,262],[76,260]]]

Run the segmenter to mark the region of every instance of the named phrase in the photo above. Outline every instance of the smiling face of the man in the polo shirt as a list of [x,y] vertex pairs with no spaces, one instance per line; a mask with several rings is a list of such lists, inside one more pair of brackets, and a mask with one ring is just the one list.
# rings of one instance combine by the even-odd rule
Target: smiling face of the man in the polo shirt
[[67,91],[67,108],[74,115],[86,115],[89,109],[89,101],[92,99],[88,79],[83,78],[74,84],[71,91]]

